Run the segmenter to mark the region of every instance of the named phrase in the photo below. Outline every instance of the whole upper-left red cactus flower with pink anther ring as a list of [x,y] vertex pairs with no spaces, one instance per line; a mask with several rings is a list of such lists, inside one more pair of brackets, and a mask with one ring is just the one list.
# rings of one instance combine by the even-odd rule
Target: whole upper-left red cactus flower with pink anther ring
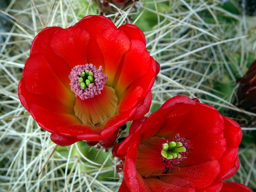
[[116,28],[108,18],[90,15],[35,37],[19,98],[58,145],[87,140],[110,147],[120,125],[148,112],[158,71],[138,27]]

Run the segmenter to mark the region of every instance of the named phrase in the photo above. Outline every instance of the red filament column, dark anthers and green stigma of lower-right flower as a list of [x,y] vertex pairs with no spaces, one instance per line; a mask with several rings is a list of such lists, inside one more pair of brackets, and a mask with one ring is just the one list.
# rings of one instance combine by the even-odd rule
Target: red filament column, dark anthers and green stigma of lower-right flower
[[188,143],[189,141],[180,138],[179,134],[172,140],[152,137],[140,144],[136,169],[146,178],[170,173],[172,168],[182,166],[180,161],[187,158],[191,148]]

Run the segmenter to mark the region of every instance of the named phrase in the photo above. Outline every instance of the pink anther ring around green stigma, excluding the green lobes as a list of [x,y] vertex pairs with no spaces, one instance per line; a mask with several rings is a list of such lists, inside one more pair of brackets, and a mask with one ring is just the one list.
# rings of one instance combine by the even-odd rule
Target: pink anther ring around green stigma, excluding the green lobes
[[[81,85],[78,82],[78,79],[81,73],[85,70],[91,71],[93,73],[94,82],[89,84],[89,87],[83,90],[81,89]],[[93,66],[92,64],[76,65],[68,76],[71,82],[71,91],[76,93],[76,97],[80,97],[82,100],[101,94],[101,90],[104,88],[106,80],[108,79],[107,74],[103,74],[102,71],[102,66],[97,69],[96,66]]]

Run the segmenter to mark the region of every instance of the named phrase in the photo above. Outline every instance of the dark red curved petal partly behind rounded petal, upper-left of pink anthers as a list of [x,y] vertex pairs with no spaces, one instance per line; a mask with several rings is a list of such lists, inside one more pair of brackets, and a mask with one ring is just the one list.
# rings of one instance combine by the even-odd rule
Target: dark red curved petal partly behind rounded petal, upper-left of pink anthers
[[56,55],[51,49],[51,40],[54,33],[59,31],[60,27],[48,27],[44,28],[34,39],[30,54],[42,54],[45,60],[49,63],[54,73],[60,78],[62,83],[70,89],[70,80],[68,75],[70,74],[71,68],[67,62]]

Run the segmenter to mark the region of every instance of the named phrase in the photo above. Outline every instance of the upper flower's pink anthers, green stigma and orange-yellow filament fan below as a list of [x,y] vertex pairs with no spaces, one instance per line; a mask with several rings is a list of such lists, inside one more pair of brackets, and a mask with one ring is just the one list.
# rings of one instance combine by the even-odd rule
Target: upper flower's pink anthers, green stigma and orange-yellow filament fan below
[[106,85],[108,79],[92,64],[77,65],[69,75],[71,91],[76,93],[75,115],[83,124],[101,126],[116,114],[118,99],[112,87]]

